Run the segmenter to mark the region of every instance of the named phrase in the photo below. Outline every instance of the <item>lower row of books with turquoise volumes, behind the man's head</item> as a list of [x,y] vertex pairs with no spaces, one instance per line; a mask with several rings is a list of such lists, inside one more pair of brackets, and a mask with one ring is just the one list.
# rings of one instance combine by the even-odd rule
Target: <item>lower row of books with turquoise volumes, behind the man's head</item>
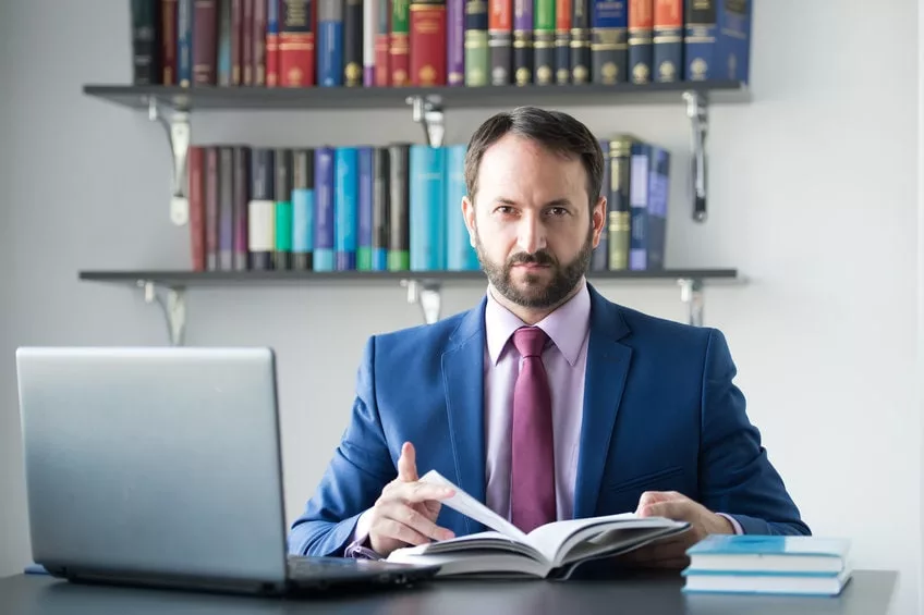
[[[632,135],[600,145],[608,212],[591,268],[662,269],[670,155]],[[477,270],[461,212],[465,149],[192,146],[192,269]]]

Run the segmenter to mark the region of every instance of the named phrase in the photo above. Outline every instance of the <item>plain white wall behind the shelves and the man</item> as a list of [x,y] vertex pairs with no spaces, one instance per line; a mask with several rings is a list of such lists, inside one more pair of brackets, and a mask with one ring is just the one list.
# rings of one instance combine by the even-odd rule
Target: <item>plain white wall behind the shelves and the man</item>
[[[709,222],[693,224],[678,198],[669,237],[670,265],[734,266],[752,278],[746,286],[709,290],[706,321],[728,335],[751,416],[807,522],[818,534],[853,538],[859,567],[900,570],[893,612],[901,614],[916,608],[921,544],[911,333],[919,279],[915,4],[893,0],[871,11],[861,0],[757,2],[754,102],[712,111]],[[127,4],[32,0],[5,9],[14,26],[7,56],[19,67],[5,81],[17,93],[13,108],[0,113],[14,144],[0,148],[15,204],[19,316],[7,320],[13,342],[162,344],[161,315],[137,292],[76,281],[78,269],[189,262],[187,231],[167,216],[162,130],[144,113],[81,95],[84,83],[130,78]],[[74,27],[77,17],[83,25]],[[872,45],[870,33],[888,34]],[[464,142],[490,111],[450,112],[448,140]],[[680,196],[689,163],[680,101],[571,111],[600,134],[633,130],[672,148]],[[194,118],[197,143],[408,138],[421,138],[421,128],[404,111]],[[482,290],[450,290],[446,311],[473,305]],[[684,318],[670,285],[601,290]],[[416,323],[416,307],[403,303],[400,288],[379,284],[197,290],[189,308],[190,344],[277,349],[287,504],[290,516],[299,514],[346,420],[363,341]],[[0,391],[14,383],[4,365]],[[19,453],[12,401],[0,417],[0,451],[9,457]],[[0,483],[8,529],[0,566],[10,571],[26,559],[26,526],[19,462],[3,463],[13,479]]]

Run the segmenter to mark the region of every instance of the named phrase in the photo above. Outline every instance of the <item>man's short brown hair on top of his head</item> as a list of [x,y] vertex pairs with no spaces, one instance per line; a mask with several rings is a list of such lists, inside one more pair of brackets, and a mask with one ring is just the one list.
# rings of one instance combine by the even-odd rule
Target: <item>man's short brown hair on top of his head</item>
[[591,207],[600,197],[604,152],[594,134],[583,123],[561,111],[537,107],[518,107],[489,118],[469,140],[465,152],[465,189],[474,201],[478,187],[478,167],[485,150],[507,134],[538,142],[545,148],[567,157],[578,156],[587,172],[587,198]]

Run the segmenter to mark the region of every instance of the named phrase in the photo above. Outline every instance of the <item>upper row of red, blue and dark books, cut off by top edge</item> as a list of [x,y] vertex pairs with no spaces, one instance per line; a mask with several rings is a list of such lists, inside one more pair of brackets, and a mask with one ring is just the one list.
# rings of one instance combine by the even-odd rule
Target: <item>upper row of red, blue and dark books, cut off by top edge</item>
[[751,10],[751,0],[132,0],[133,82],[746,82]]

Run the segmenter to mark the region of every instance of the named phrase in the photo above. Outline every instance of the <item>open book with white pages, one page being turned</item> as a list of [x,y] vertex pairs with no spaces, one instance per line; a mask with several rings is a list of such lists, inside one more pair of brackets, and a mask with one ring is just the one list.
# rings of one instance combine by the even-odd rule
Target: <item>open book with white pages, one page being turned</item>
[[442,504],[495,530],[397,549],[388,557],[389,562],[437,564],[441,567],[439,576],[525,575],[567,579],[584,562],[625,553],[690,527],[685,521],[623,513],[554,521],[527,534],[436,470],[421,480],[451,487],[455,494]]

